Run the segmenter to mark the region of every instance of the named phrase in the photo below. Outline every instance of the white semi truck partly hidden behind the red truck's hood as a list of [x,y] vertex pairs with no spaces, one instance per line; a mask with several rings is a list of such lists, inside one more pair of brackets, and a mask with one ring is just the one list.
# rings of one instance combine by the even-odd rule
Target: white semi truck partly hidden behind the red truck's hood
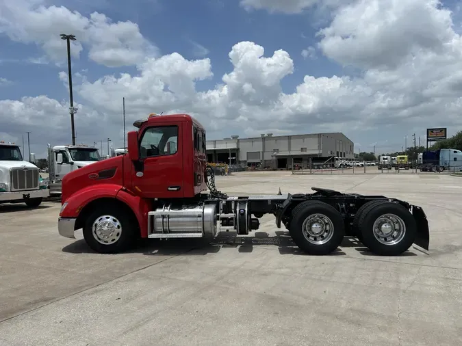
[[48,144],[48,168],[51,196],[61,196],[62,178],[69,172],[101,161],[98,149],[85,145],[53,146]]

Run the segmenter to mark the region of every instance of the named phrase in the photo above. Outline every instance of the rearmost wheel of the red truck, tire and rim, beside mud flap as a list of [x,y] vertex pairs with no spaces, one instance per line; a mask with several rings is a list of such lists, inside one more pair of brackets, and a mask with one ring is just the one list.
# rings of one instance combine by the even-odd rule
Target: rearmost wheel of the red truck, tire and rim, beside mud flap
[[370,204],[359,217],[362,242],[372,252],[396,256],[407,251],[417,234],[417,224],[409,211],[400,204]]

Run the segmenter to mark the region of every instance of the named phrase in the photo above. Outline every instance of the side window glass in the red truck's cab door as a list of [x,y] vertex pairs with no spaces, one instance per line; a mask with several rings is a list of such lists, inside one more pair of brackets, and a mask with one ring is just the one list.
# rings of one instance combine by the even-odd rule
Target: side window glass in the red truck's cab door
[[178,151],[178,127],[150,127],[140,143],[140,157],[173,155]]

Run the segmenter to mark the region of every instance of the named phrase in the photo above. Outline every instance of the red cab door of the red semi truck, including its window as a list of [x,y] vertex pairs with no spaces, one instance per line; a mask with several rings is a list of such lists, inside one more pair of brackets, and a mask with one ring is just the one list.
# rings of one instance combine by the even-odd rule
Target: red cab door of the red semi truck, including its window
[[144,198],[181,198],[183,191],[182,123],[147,127],[140,135],[141,172],[132,176],[133,191]]

